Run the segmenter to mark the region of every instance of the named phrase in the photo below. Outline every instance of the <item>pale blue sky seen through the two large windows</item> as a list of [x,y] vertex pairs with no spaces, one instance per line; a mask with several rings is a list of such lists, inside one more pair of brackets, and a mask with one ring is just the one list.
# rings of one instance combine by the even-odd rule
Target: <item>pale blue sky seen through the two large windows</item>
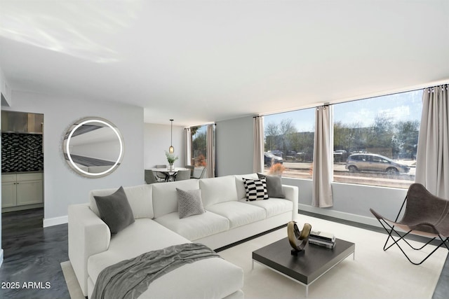
[[[334,104],[334,122],[358,123],[361,127],[373,124],[376,116],[387,116],[394,120],[421,120],[422,90],[401,92],[394,95],[372,97],[341,104]],[[281,123],[290,118],[297,132],[312,132],[315,123],[315,108],[276,113],[264,116],[264,125]]]

